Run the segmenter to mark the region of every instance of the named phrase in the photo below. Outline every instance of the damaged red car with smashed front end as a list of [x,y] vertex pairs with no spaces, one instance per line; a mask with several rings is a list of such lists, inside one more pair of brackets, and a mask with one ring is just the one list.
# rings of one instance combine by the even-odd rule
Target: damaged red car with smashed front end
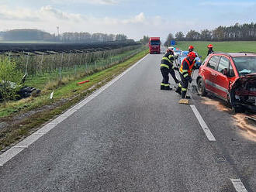
[[199,68],[199,94],[224,99],[236,112],[256,112],[256,53],[212,53]]

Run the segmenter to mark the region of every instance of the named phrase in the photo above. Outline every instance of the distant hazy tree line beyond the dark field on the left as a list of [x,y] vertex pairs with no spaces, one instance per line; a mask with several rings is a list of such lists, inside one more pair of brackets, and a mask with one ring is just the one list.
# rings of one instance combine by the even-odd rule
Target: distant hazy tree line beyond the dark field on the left
[[12,29],[0,32],[0,39],[6,41],[52,41],[62,43],[95,43],[116,40],[125,40],[127,36],[123,34],[105,34],[105,33],[61,33],[59,35],[50,34],[39,29]]

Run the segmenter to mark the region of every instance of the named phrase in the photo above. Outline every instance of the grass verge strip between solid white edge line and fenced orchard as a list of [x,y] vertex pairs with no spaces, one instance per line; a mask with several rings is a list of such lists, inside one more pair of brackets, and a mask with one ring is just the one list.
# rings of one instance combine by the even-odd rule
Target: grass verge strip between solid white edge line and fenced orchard
[[[44,122],[49,121],[78,101],[81,101],[81,99],[92,94],[92,91],[111,81],[114,77],[136,63],[137,60],[147,55],[147,53],[148,50],[141,51],[123,63],[116,64],[107,69],[92,71],[92,74],[86,74],[85,77],[81,77],[76,81],[56,84],[54,99],[52,100],[49,99],[50,92],[52,91],[51,86],[50,89],[46,87],[40,97],[22,99],[21,101],[17,101],[19,105],[14,103],[5,104],[6,106],[2,106],[5,107],[5,112],[3,110],[2,112],[0,111],[0,115],[2,116],[0,122],[7,122],[9,126],[0,132],[0,150],[19,142],[24,136],[33,132],[33,129],[36,127],[39,127]],[[76,84],[85,80],[89,82],[80,85]],[[19,118],[21,120],[17,120]],[[16,123],[13,124],[13,121],[16,121]]]

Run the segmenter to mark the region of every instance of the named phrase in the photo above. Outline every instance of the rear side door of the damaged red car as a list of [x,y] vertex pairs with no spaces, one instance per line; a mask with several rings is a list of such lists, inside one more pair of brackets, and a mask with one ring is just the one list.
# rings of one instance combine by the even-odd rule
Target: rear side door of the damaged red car
[[206,67],[204,68],[203,74],[205,76],[206,90],[212,91],[213,93],[218,92],[216,88],[216,76],[217,76],[217,67],[220,60],[220,56],[213,56],[209,58]]

